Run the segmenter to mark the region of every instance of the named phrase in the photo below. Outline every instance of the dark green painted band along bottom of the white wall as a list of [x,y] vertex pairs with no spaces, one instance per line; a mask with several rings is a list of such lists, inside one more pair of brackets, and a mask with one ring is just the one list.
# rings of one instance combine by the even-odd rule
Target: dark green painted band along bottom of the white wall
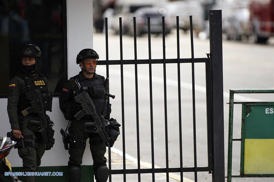
[[[20,172],[22,167],[12,167],[12,172]],[[68,181],[68,166],[47,166],[39,167],[39,172],[63,172],[63,176],[37,176],[37,182],[48,182],[48,181],[58,181],[67,182]],[[92,165],[81,165],[81,182],[94,181],[94,173]],[[20,180],[20,177],[18,177]],[[9,180],[4,180],[9,182]]]

